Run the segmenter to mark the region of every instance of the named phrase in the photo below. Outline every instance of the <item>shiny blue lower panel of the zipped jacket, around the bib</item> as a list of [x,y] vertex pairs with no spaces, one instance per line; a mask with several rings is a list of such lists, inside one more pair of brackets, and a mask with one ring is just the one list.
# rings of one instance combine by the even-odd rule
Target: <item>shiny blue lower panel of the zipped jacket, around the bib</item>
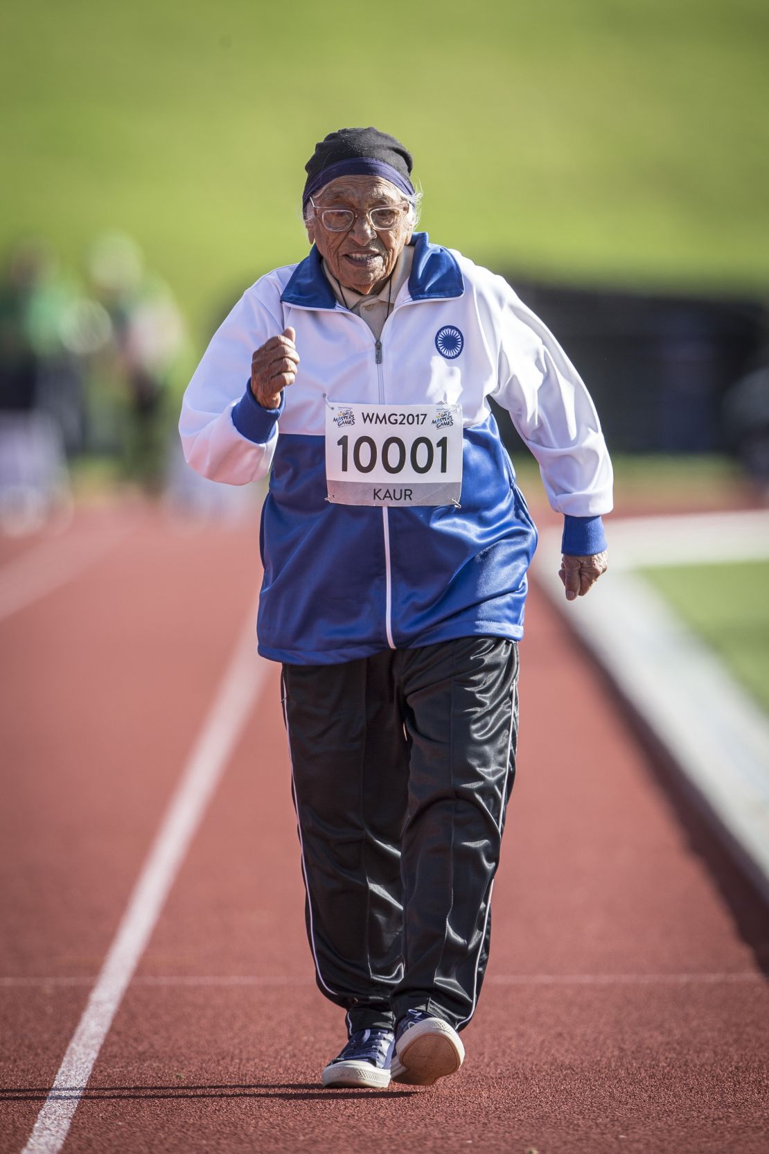
[[[390,509],[398,647],[523,632],[536,530],[492,415],[465,429],[461,509]],[[326,665],[387,649],[383,511],[325,500],[321,436],[279,434],[262,510],[259,653]]]

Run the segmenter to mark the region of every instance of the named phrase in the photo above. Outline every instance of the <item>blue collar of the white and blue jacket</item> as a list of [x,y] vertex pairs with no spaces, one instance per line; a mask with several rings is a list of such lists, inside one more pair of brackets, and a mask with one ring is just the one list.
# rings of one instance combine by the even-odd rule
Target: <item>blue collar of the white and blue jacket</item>
[[[448,249],[431,245],[427,232],[415,232],[410,243],[414,246],[414,261],[408,278],[412,300],[461,297],[465,280]],[[310,255],[300,261],[292,272],[280,299],[286,305],[300,305],[302,308],[337,307],[337,299],[321,267],[321,254],[315,245]]]

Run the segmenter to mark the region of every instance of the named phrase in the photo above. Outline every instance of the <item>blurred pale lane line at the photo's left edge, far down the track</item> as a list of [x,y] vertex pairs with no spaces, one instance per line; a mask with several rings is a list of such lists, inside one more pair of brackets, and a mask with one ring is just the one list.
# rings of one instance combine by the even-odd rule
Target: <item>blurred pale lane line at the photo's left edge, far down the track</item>
[[73,530],[9,561],[0,570],[0,621],[77,577],[129,532],[126,527],[81,535]]

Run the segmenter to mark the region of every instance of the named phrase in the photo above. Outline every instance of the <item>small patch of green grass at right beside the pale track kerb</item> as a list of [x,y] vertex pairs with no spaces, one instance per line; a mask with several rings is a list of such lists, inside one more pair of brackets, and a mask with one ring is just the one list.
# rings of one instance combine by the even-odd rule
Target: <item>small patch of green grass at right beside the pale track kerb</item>
[[769,561],[642,574],[769,712]]

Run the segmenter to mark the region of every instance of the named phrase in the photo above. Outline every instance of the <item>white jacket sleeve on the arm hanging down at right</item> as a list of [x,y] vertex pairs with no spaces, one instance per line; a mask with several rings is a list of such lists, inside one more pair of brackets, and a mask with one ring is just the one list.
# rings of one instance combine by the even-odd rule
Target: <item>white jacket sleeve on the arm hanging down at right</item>
[[551,507],[568,517],[611,511],[612,469],[595,405],[563,349],[505,284],[498,385],[536,457]]

